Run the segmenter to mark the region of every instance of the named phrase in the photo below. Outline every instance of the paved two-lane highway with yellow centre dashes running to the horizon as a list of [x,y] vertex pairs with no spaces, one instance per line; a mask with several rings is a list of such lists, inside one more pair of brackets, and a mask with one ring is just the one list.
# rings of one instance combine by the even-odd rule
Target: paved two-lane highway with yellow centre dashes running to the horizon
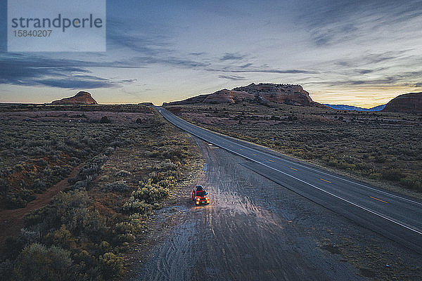
[[193,136],[249,159],[245,166],[252,171],[422,254],[422,202],[200,128],[162,107],[155,109]]

